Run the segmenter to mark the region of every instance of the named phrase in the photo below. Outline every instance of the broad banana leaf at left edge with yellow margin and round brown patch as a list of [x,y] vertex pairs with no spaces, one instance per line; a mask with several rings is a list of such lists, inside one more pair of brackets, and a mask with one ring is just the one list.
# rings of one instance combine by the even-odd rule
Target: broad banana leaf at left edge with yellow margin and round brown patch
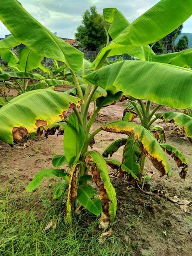
[[0,109],[0,140],[13,144],[40,126],[59,122],[80,99],[50,89],[26,92]]

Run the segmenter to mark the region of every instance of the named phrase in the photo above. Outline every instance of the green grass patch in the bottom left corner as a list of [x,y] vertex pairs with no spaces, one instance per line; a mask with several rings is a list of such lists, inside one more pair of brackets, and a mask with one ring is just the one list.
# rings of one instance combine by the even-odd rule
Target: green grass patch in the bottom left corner
[[[60,212],[61,201],[53,206],[43,193],[17,194],[10,189],[0,193],[0,256],[130,255],[129,243],[121,240],[127,231],[122,227],[101,244],[97,219],[84,214],[70,227]],[[57,219],[57,226],[45,231],[51,219]]]

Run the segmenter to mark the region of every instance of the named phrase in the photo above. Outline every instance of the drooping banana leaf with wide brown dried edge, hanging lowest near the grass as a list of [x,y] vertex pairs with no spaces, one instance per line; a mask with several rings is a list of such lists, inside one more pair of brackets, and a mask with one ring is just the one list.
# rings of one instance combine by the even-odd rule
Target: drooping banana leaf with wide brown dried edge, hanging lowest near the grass
[[111,220],[114,220],[117,210],[117,198],[108,176],[107,164],[104,158],[96,151],[89,152],[85,161],[93,173],[92,181],[99,187],[103,211]]

